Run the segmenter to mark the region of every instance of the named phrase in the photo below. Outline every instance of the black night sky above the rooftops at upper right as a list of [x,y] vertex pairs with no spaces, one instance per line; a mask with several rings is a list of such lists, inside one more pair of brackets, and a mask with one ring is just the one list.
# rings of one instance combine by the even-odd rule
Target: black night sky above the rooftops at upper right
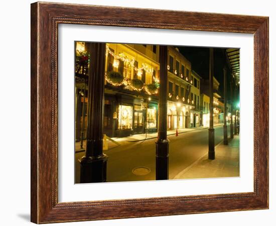
[[[202,78],[209,79],[209,48],[176,46],[192,63],[192,69]],[[227,95],[230,97],[230,68],[225,59],[225,48],[214,48],[214,77],[219,82],[219,94],[223,97],[223,67],[227,68]]]

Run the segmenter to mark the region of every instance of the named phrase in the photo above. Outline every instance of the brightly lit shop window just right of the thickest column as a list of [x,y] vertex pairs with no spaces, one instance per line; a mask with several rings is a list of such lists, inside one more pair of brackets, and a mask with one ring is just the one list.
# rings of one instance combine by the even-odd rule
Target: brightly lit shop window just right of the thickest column
[[132,106],[118,106],[118,129],[132,128]]

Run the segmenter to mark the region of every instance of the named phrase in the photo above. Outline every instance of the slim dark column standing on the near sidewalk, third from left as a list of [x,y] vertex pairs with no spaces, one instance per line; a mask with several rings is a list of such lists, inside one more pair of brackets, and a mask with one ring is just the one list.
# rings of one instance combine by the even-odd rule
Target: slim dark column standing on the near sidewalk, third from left
[[209,92],[210,92],[210,122],[208,158],[215,159],[215,129],[214,129],[214,48],[209,49]]

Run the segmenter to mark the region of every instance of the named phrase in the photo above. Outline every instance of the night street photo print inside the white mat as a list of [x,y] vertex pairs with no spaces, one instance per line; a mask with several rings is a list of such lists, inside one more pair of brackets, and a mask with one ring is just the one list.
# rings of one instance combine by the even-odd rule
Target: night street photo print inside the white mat
[[239,176],[239,48],[75,41],[75,183]]

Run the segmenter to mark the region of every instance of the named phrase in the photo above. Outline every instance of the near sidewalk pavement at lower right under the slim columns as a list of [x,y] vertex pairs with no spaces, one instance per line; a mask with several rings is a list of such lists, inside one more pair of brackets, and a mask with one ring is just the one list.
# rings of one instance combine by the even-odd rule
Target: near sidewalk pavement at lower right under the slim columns
[[178,173],[174,179],[213,178],[239,176],[239,135],[215,147],[215,159],[208,159],[208,152]]

